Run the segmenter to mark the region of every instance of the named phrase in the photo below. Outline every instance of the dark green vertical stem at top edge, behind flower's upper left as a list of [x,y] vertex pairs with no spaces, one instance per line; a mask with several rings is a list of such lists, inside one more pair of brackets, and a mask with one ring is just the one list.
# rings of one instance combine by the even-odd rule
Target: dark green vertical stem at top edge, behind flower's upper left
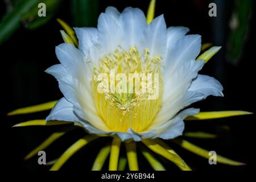
[[73,26],[96,27],[98,18],[98,0],[73,0]]

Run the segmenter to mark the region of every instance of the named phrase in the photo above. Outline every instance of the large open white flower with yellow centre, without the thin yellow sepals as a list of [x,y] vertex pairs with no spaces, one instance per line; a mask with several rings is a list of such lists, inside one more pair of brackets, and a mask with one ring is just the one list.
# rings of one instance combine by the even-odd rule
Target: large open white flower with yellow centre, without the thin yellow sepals
[[[204,60],[200,35],[185,27],[166,27],[163,15],[147,25],[143,12],[127,7],[121,14],[108,7],[97,28],[75,28],[79,49],[60,44],[61,64],[46,70],[59,81],[64,94],[47,117],[72,121],[97,135],[121,140],[172,139],[182,134],[183,119],[199,113],[185,109],[207,96],[223,96],[220,82],[198,75]],[[98,93],[98,73],[159,73],[159,97]]]

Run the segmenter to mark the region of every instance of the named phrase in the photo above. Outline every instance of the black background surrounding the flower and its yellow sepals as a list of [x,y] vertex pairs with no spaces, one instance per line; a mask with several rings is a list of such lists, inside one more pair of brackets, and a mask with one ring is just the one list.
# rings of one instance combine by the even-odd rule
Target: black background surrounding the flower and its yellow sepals
[[[217,4],[217,17],[208,16],[210,2]],[[119,11],[127,6],[139,7],[146,13],[148,3],[149,1],[138,0],[99,1],[98,14],[104,11],[107,6],[115,6]],[[234,1],[156,1],[155,15],[164,14],[167,27],[188,27],[191,30],[189,34],[200,34],[203,43],[212,42],[215,46],[222,46],[221,51],[205,65],[200,73],[217,78],[224,86],[225,97],[208,97],[207,100],[195,104],[195,107],[200,107],[201,111],[246,110],[255,112],[255,3],[250,16],[249,31],[243,42],[242,56],[236,65],[231,64],[226,59],[229,19],[233,6]],[[69,25],[74,26],[70,7],[70,1],[63,1],[55,18],[61,18]],[[5,3],[0,1],[0,18],[4,13]],[[7,170],[46,171],[49,169],[48,166],[39,166],[36,156],[26,162],[22,159],[59,127],[11,128],[15,123],[31,119],[44,119],[49,111],[15,117],[5,117],[5,115],[19,107],[58,100],[62,97],[55,78],[44,72],[48,67],[59,62],[55,56],[55,46],[63,42],[59,32],[63,28],[56,22],[55,18],[34,31],[26,30],[24,27],[19,28],[10,39],[0,46],[3,82],[1,86],[1,114],[3,119],[1,119],[0,125],[1,134],[3,134],[1,146],[3,154],[1,157]],[[222,156],[244,162],[247,166],[232,167],[223,164],[210,166],[207,159],[182,150],[175,144],[172,144],[172,147],[191,168],[199,171],[208,169],[247,171],[253,169],[253,158],[255,158],[253,151],[255,143],[254,122],[254,115],[213,121],[185,122],[185,131],[207,131],[218,134],[217,139],[187,138],[189,141],[207,150],[214,150]],[[57,140],[46,149],[47,160],[56,159],[65,148],[83,135],[84,132],[81,129],[76,129]],[[78,169],[81,171],[90,169],[98,150],[103,143],[108,141],[108,138],[96,140],[82,148],[61,169]],[[139,159],[141,169],[150,169],[141,154],[139,154]],[[167,169],[177,170],[172,164],[164,162],[164,160],[163,164]]]

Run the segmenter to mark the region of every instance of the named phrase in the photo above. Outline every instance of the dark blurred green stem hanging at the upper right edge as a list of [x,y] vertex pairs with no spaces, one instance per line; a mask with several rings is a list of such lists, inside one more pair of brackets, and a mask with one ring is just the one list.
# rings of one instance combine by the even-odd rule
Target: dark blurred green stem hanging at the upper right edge
[[228,40],[228,61],[237,64],[243,51],[247,30],[250,26],[250,14],[253,1],[236,1],[232,18],[230,19],[230,34]]

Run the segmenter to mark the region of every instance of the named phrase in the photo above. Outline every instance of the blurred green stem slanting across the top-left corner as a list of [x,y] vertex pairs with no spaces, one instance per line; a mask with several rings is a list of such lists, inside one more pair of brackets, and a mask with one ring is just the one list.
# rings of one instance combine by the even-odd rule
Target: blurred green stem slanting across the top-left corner
[[15,30],[20,27],[20,17],[26,11],[31,9],[32,6],[36,5],[38,0],[23,0],[18,1],[13,9],[3,16],[0,23],[0,44],[7,40]]

